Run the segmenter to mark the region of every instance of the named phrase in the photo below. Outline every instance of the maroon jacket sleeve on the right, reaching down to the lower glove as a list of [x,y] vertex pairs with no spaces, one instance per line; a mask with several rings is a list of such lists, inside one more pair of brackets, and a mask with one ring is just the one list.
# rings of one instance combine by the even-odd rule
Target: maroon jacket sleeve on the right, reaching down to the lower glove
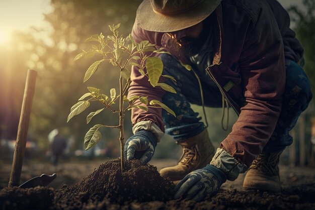
[[285,86],[283,42],[267,7],[248,28],[240,69],[245,103],[221,148],[250,166],[275,129]]

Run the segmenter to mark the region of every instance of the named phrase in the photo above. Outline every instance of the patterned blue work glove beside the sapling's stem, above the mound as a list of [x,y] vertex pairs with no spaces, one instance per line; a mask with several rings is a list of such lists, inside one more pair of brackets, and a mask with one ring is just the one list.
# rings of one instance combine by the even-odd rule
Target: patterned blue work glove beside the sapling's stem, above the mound
[[147,130],[138,131],[125,143],[125,158],[127,160],[139,159],[145,165],[151,160],[156,144],[157,138],[152,132]]

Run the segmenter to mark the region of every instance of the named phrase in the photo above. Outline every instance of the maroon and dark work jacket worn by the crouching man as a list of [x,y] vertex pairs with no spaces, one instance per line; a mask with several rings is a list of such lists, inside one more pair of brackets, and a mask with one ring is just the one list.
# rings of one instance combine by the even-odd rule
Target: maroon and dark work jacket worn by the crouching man
[[[220,147],[250,166],[270,139],[278,121],[285,86],[284,57],[296,62],[302,48],[289,29],[287,12],[275,0],[222,0],[213,15],[216,53],[206,71],[217,83],[239,118]],[[174,46],[165,33],[145,31],[134,24],[135,41]],[[176,55],[190,64],[185,55]],[[164,90],[153,88],[137,67],[131,74],[129,95],[162,101]],[[150,120],[164,131],[161,109],[133,109],[132,123]]]

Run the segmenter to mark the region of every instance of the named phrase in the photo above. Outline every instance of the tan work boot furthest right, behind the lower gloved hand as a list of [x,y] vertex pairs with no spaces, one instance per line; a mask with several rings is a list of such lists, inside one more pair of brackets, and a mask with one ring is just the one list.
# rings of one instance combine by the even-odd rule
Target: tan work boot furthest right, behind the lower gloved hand
[[281,192],[278,166],[280,154],[263,152],[258,155],[245,176],[244,189]]

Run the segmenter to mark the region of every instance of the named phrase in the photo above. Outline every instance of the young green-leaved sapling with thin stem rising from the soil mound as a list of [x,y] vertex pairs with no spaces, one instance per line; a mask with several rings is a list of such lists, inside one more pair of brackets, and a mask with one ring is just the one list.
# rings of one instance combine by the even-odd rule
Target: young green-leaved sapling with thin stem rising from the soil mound
[[[130,74],[131,66],[137,66],[138,71],[141,75],[147,77],[148,81],[153,87],[160,86],[166,91],[176,93],[175,89],[163,82],[159,82],[160,77],[167,77],[175,80],[174,77],[170,75],[162,75],[163,72],[163,62],[159,57],[152,56],[155,53],[168,53],[164,51],[163,48],[156,49],[155,45],[150,44],[148,41],[141,41],[136,43],[131,34],[127,38],[123,38],[119,35],[118,25],[109,26],[112,35],[105,37],[102,33],[93,35],[92,37],[86,39],[86,42],[95,42],[96,45],[92,45],[92,49],[88,51],[83,51],[78,54],[75,60],[78,60],[84,56],[93,57],[96,54],[101,55],[102,59],[95,61],[86,71],[84,76],[84,82],[86,82],[90,77],[98,70],[99,66],[103,62],[110,62],[117,70],[120,71],[119,76],[119,93],[116,93],[115,88],[110,89],[110,95],[102,93],[100,89],[96,87],[88,87],[89,92],[82,95],[75,103],[68,115],[67,122],[74,117],[85,111],[89,106],[91,101],[97,101],[102,104],[104,108],[90,113],[87,116],[87,123],[91,119],[100,114],[105,109],[110,110],[113,114],[118,114],[119,125],[108,126],[97,124],[93,126],[86,134],[84,138],[85,149],[88,150],[95,146],[102,138],[101,132],[99,131],[102,127],[116,128],[119,129],[120,137],[120,157],[121,157],[121,171],[124,170],[124,113],[131,109],[141,109],[148,111],[148,108],[162,108],[175,116],[175,113],[167,107],[164,103],[159,100],[148,101],[147,96],[134,95],[132,97],[127,97],[127,91],[131,83]],[[127,43],[127,41],[129,43]],[[146,72],[144,71],[146,69]],[[88,99],[87,99],[88,98]],[[115,108],[115,101],[119,101],[119,108]],[[127,104],[127,105],[125,105]]]

